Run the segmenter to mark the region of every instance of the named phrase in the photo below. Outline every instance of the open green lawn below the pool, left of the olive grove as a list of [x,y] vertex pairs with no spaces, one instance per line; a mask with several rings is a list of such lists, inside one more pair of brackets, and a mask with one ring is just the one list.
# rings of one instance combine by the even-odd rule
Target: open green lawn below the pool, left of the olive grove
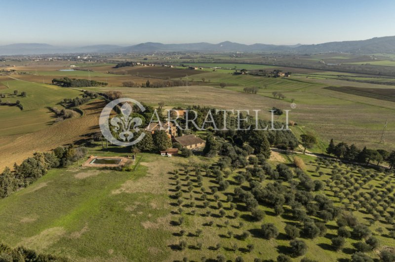
[[[0,225],[0,238],[79,261],[161,260],[170,253],[166,240],[171,235],[155,221],[168,216],[160,180],[171,163],[159,160],[143,155],[134,172],[51,170],[0,200],[0,220],[7,221]],[[162,167],[158,173],[151,170],[156,161]]]

